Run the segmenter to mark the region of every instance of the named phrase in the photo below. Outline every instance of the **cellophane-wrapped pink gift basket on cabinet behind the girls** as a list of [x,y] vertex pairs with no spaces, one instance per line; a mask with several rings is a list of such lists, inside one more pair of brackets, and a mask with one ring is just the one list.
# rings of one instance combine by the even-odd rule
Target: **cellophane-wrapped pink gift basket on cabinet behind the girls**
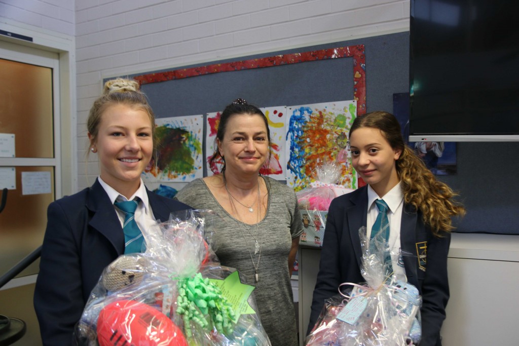
[[299,238],[300,244],[321,247],[326,226],[328,208],[335,197],[353,191],[339,181],[342,170],[338,164],[326,162],[316,167],[316,181],[310,187],[296,192],[299,214],[304,231]]

